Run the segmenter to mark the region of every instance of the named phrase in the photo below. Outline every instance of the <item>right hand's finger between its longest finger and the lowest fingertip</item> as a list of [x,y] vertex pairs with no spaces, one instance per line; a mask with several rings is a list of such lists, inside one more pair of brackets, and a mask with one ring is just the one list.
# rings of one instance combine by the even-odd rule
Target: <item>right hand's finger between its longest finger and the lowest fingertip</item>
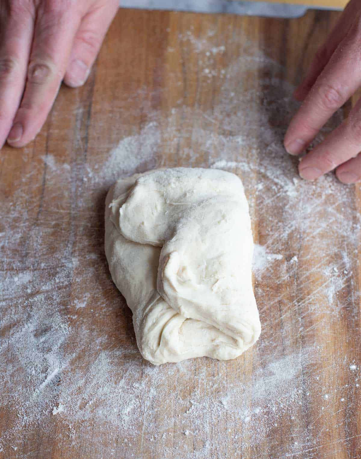
[[[355,157],[361,151],[361,101],[337,129],[308,153],[299,164],[300,176],[314,180]],[[342,165],[342,168],[346,167]],[[339,174],[343,171],[340,168]]]

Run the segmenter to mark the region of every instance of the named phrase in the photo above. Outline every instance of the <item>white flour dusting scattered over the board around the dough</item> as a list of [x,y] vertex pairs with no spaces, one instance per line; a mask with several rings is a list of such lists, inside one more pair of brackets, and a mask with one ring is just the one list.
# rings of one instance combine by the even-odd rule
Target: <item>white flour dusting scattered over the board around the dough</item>
[[[311,458],[320,448],[317,425],[295,430],[301,413],[311,409],[322,419],[339,403],[345,416],[352,412],[359,357],[347,346],[342,355],[328,356],[318,341],[326,320],[336,334],[344,310],[351,321],[357,310],[357,289],[345,294],[345,286],[355,284],[361,235],[350,188],[332,174],[313,184],[299,179],[297,160],[282,146],[297,105],[281,66],[253,48],[219,75],[212,66],[227,47],[197,41],[192,33],[179,39],[198,50],[205,84],[218,78],[212,110],[179,101],[165,116],[149,107],[142,129],[123,126],[118,144],[100,151],[93,163],[79,157],[64,162],[56,152],[40,155],[33,167],[44,168],[43,185],[31,192],[19,185],[2,212],[0,408],[17,417],[0,437],[0,451],[20,448],[24,432],[31,436],[34,426],[57,438],[51,424],[57,420],[74,448],[80,438],[91,441],[95,426],[99,438],[114,445],[107,456],[141,457],[145,449],[139,453],[133,444],[141,435],[142,448],[153,457],[228,457],[227,445],[241,457],[271,438],[276,443],[270,451],[278,451],[283,423],[289,425],[289,450],[277,457]],[[254,72],[260,84],[252,86],[246,77]],[[146,89],[130,94],[124,110],[143,99],[147,106],[146,95]],[[339,120],[337,114],[318,141]],[[172,154],[171,163],[165,152]],[[234,172],[244,182],[251,218],[258,222],[254,274],[262,335],[236,362],[212,361],[211,369],[203,359],[195,366],[184,361],[154,367],[140,357],[130,312],[108,274],[104,194],[120,175],[195,164]],[[74,175],[76,186],[70,185]],[[40,212],[41,186],[60,197],[54,206],[45,194]],[[70,234],[63,231],[67,219]],[[310,290],[313,274],[318,285]],[[287,289],[281,288],[285,283]],[[279,334],[272,334],[278,325]],[[333,368],[335,379],[323,377],[325,367]],[[341,370],[347,380],[338,378]],[[222,431],[225,418],[228,431]],[[105,457],[102,441],[95,447]]]

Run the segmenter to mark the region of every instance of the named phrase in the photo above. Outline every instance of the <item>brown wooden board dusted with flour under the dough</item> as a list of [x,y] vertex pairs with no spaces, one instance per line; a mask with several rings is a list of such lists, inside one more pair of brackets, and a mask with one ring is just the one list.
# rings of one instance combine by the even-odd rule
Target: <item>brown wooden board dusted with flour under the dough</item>
[[[2,150],[1,457],[361,456],[360,188],[282,147],[338,17],[120,10],[84,87]],[[165,166],[244,182],[262,334],[236,360],[148,364],[111,281],[106,191]]]

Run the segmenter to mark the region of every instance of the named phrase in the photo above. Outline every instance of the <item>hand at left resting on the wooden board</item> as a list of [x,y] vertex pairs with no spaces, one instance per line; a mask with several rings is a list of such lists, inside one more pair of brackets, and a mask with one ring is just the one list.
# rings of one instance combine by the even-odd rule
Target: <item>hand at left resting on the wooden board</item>
[[0,147],[38,134],[61,81],[89,75],[119,0],[3,0],[0,3]]

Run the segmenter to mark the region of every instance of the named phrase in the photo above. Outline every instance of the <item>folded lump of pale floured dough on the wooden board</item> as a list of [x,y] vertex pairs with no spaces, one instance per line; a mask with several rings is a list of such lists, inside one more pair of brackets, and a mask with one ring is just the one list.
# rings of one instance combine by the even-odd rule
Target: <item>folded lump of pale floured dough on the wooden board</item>
[[106,257],[153,364],[236,358],[261,324],[241,180],[215,169],[159,169],[120,179],[106,198]]

